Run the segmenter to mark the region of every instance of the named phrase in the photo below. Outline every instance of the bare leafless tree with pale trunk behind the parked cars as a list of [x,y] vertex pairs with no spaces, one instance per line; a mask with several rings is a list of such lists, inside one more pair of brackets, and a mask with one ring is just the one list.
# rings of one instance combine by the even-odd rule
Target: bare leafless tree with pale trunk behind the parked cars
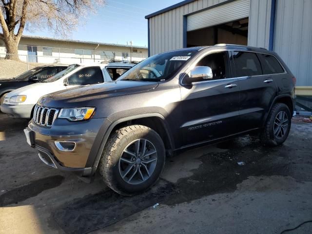
[[18,45],[24,28],[53,30],[68,36],[86,14],[105,0],[0,0],[0,25],[6,48],[5,59],[19,60]]

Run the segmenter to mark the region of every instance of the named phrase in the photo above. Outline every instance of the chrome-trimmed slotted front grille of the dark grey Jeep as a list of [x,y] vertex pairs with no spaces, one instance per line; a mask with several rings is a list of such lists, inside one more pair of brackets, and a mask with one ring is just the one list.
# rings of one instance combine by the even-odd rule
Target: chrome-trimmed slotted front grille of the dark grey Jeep
[[59,110],[36,105],[33,120],[35,123],[51,127],[54,120],[58,117]]

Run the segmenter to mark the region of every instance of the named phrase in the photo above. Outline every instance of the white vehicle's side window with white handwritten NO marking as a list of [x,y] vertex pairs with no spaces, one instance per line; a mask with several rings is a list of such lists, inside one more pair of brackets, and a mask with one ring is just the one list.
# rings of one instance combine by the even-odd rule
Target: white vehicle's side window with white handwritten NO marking
[[82,68],[68,78],[69,85],[103,83],[103,74],[99,67]]

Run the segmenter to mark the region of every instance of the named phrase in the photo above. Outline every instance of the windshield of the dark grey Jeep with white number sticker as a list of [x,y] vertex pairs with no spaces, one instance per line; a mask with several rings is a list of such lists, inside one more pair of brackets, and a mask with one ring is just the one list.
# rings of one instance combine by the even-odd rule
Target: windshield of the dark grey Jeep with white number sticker
[[173,51],[143,60],[117,80],[163,81],[171,78],[197,51]]

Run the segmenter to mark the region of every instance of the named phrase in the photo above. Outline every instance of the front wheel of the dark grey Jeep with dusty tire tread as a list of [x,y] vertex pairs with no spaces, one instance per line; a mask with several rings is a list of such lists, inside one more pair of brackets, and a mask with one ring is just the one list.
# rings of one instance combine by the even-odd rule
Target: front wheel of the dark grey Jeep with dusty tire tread
[[109,137],[99,161],[99,173],[118,194],[136,195],[156,183],[165,165],[165,157],[164,143],[153,129],[130,125],[116,130]]

